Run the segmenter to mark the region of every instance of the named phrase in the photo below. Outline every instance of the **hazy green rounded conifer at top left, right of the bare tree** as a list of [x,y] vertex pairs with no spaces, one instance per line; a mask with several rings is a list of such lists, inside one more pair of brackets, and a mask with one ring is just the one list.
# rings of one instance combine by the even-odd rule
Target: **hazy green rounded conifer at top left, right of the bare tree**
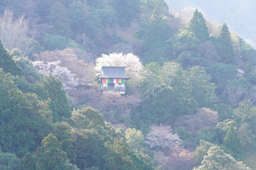
[[51,34],[61,35],[66,38],[70,37],[71,31],[69,15],[65,7],[60,2],[55,2],[47,16],[47,19],[49,20],[49,24],[53,26],[53,29],[50,29]]

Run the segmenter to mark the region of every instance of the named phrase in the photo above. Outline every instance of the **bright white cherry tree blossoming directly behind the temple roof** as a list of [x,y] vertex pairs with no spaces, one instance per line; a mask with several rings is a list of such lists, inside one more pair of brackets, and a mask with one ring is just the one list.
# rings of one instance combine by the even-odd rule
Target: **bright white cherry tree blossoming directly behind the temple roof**
[[102,66],[119,66],[125,67],[126,75],[136,76],[143,69],[142,62],[138,56],[133,53],[111,53],[101,54],[102,56],[96,59],[95,69],[101,71]]

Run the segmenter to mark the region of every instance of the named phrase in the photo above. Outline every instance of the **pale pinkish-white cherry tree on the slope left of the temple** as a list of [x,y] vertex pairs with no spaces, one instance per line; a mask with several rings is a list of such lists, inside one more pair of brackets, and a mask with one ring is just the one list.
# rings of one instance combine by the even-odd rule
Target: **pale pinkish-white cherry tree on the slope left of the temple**
[[46,76],[51,74],[57,78],[62,78],[64,81],[66,80],[66,83],[68,84],[76,84],[78,81],[78,78],[75,79],[76,74],[72,74],[67,67],[59,66],[60,63],[60,60],[56,62],[47,62],[47,64],[44,64],[43,61],[35,61],[33,62],[33,65],[38,72],[42,72]]

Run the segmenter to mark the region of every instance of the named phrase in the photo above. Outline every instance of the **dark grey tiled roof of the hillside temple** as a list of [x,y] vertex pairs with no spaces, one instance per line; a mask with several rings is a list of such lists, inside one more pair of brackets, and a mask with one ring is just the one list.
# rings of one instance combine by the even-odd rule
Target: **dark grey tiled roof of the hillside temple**
[[[119,79],[130,79],[125,75],[125,67],[110,67],[110,66],[102,66],[101,68],[101,78],[119,78]],[[99,79],[99,77],[97,79]]]

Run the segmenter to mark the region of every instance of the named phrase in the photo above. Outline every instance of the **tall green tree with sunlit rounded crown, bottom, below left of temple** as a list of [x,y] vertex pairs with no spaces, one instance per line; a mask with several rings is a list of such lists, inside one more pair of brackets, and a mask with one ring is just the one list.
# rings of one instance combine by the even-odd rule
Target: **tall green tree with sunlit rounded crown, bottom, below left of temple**
[[73,111],[68,120],[70,125],[79,131],[72,131],[76,140],[76,165],[79,168],[104,168],[105,161],[102,156],[106,153],[104,143],[113,141],[115,132],[113,127],[104,121],[102,114],[90,107]]

